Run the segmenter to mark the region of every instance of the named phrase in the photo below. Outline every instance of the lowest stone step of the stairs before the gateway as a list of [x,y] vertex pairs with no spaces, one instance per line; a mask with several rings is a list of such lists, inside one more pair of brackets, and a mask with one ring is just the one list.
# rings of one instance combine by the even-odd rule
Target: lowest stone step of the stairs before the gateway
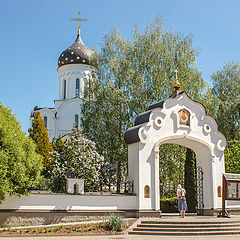
[[205,232],[205,231],[200,231],[200,232],[182,232],[182,231],[176,231],[176,232],[150,232],[150,231],[129,231],[128,234],[132,235],[168,235],[168,236],[198,236],[198,235],[240,235],[240,230],[236,231],[212,231],[212,232]]

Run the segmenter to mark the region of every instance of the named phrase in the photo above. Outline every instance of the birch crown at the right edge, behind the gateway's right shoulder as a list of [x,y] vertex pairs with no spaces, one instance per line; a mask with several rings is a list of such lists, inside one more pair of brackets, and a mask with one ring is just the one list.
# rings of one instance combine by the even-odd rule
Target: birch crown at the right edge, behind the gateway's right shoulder
[[212,81],[218,128],[227,140],[237,139],[240,132],[240,64],[225,64],[212,74]]

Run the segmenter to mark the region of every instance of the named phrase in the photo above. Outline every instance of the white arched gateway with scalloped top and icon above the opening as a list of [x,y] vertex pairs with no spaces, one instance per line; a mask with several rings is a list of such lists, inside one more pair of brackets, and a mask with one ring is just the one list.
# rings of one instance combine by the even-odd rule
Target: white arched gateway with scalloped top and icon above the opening
[[[203,105],[185,92],[155,103],[135,119],[125,133],[128,145],[129,180],[134,180],[137,210],[159,211],[159,146],[174,143],[196,153],[197,166],[203,170],[204,214],[221,207],[224,173],[225,137],[215,120],[206,115]],[[161,163],[160,163],[161,164]]]

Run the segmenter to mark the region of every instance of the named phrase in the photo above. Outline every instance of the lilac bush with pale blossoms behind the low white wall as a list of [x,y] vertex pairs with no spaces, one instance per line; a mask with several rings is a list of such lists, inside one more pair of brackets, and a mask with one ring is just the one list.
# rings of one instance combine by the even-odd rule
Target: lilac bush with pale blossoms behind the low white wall
[[53,141],[54,151],[48,167],[53,190],[65,188],[67,174],[84,179],[86,190],[111,178],[114,167],[96,151],[95,143],[74,131],[65,141]]

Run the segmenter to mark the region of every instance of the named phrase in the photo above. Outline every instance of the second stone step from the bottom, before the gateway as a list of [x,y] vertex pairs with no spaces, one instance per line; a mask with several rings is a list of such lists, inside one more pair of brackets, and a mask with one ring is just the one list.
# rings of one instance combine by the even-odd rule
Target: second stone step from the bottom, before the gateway
[[224,228],[146,228],[137,227],[133,231],[149,231],[149,232],[211,232],[211,231],[240,231],[240,227],[224,227]]

